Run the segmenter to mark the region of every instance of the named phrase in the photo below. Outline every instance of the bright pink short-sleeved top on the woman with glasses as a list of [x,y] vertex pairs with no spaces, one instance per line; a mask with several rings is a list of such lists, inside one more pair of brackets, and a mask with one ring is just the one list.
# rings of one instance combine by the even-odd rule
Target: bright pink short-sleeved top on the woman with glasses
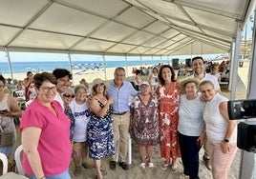
[[[47,107],[38,103],[37,98],[25,110],[21,117],[20,131],[27,127],[42,129],[38,152],[46,176],[61,173],[69,168],[71,162],[70,120],[60,104],[52,103],[57,116]],[[26,153],[23,155],[23,168],[26,174],[33,174]]]

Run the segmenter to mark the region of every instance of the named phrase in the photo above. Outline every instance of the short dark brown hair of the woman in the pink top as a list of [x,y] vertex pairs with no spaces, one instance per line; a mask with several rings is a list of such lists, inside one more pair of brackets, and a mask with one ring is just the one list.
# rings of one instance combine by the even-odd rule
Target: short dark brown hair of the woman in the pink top
[[43,82],[45,81],[48,81],[53,83],[54,85],[57,85],[57,80],[55,76],[50,72],[36,73],[33,76],[33,83],[37,89],[39,89],[42,86]]

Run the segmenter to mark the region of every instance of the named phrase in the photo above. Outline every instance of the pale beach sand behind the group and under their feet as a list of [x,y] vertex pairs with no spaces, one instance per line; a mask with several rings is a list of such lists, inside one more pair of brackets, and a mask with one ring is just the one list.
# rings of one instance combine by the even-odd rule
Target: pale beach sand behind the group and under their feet
[[[237,82],[237,91],[236,91],[236,99],[243,99],[246,97],[245,93],[245,87],[247,84],[247,71],[248,71],[249,62],[245,61],[244,67],[239,68],[238,74],[238,82]],[[107,69],[106,76],[107,79],[113,79],[114,77],[114,70],[115,68]],[[74,71],[75,72],[75,71]],[[132,67],[129,67],[127,69],[127,79],[132,80],[134,74],[132,74]],[[23,79],[25,74],[14,74],[14,78],[16,79]],[[83,75],[74,75],[74,84],[78,84],[79,80],[81,78],[85,78],[87,82],[91,83],[96,77],[100,77],[104,79],[104,71],[96,71],[94,73],[88,73]],[[6,76],[8,77],[8,76]],[[143,77],[144,79],[147,79],[146,76]],[[223,92],[224,96],[229,98],[230,92],[227,90],[224,90]],[[18,126],[17,126],[18,128]],[[17,146],[20,145],[20,132],[17,131],[18,134],[18,141],[15,145],[15,149]],[[241,151],[238,150],[236,157],[233,161],[233,164],[231,166],[230,172],[229,172],[229,179],[237,179],[239,178],[239,168],[240,168],[240,155]],[[110,158],[106,157],[102,160],[102,165],[107,169],[107,175],[104,176],[105,179],[155,179],[155,178],[166,178],[166,179],[176,179],[179,178],[179,176],[182,173],[182,165],[181,165],[181,159],[179,159],[179,169],[178,172],[171,172],[171,169],[160,169],[160,165],[163,163],[163,160],[160,158],[160,149],[159,146],[155,147],[154,157],[153,157],[153,163],[155,165],[154,169],[148,169],[142,170],[139,168],[140,158],[139,158],[139,150],[137,144],[133,141],[132,145],[132,164],[130,165],[129,170],[123,170],[120,167],[117,166],[116,170],[111,170],[109,168],[109,161]],[[93,166],[93,161],[91,159],[88,159],[89,164]],[[73,179],[95,179],[96,178],[96,170],[95,169],[82,169],[82,174],[78,177],[75,177],[73,174],[75,169],[74,162],[71,162],[70,166],[70,173]],[[203,164],[203,149],[200,151],[200,172],[199,176],[201,179],[209,179],[212,178],[211,171],[206,169]]]

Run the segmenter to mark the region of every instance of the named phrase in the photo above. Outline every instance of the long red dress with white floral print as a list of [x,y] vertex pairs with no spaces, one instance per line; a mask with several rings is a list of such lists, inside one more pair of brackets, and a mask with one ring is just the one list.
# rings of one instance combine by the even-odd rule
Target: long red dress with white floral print
[[178,140],[178,105],[180,89],[177,82],[172,82],[170,89],[166,91],[160,86],[160,157],[176,161],[181,157]]

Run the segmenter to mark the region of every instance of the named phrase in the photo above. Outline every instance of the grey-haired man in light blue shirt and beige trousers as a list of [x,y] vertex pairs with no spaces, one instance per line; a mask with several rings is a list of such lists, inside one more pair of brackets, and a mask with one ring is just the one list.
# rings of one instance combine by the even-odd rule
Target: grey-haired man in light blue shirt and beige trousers
[[[117,149],[117,140],[120,139],[119,148],[119,166],[127,170],[128,165],[125,163],[127,157],[128,148],[128,132],[130,126],[130,107],[129,100],[131,96],[138,94],[138,91],[134,89],[131,83],[125,80],[125,70],[123,68],[117,68],[114,72],[114,81],[110,83],[108,96],[114,98],[113,104],[113,131],[114,131],[114,143],[115,149]],[[117,155],[117,152],[116,152]],[[113,156],[110,162],[110,169],[116,169],[116,155]]]

